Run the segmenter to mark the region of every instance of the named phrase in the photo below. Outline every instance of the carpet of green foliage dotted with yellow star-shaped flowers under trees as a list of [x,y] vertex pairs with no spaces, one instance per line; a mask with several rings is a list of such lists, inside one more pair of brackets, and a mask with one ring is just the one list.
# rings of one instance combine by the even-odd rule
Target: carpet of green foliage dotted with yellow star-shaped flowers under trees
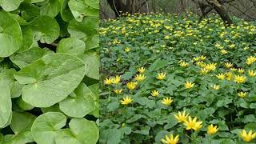
[[256,24],[198,19],[102,22],[100,143],[256,142]]

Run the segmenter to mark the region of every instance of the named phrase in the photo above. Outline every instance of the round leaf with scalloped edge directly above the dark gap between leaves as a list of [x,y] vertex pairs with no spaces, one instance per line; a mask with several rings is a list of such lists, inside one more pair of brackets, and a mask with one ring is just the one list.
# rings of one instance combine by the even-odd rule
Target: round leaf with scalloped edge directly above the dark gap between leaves
[[40,40],[42,43],[52,43],[59,35],[58,22],[54,18],[43,15],[35,18],[31,23],[34,31],[34,38],[36,41]]

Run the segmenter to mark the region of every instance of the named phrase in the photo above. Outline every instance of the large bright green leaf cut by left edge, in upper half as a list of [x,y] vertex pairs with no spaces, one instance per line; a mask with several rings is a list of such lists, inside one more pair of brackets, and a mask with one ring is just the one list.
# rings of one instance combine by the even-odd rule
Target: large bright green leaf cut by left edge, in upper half
[[0,57],[14,54],[22,45],[22,30],[9,14],[0,11]]

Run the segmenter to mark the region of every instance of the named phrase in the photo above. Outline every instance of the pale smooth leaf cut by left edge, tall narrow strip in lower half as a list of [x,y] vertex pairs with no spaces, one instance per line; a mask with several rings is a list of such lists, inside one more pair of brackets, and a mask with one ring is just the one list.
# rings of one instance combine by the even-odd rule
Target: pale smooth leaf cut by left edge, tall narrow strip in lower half
[[0,78],[0,128],[5,127],[11,114],[10,90],[6,82]]

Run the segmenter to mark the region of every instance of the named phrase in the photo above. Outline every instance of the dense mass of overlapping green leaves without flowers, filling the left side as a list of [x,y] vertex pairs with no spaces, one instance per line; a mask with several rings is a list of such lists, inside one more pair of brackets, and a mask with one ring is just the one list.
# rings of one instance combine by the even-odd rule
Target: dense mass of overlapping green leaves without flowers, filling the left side
[[98,141],[98,1],[0,1],[0,143]]

